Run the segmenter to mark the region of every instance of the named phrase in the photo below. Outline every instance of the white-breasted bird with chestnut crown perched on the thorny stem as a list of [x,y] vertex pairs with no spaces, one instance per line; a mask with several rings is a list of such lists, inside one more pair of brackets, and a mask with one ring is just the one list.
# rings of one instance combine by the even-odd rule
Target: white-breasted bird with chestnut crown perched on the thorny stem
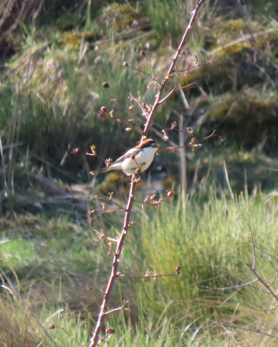
[[157,143],[151,138],[140,142],[131,148],[120,158],[110,164],[107,168],[91,171],[91,175],[99,174],[110,170],[121,170],[127,176],[131,176],[139,169],[140,172],[146,171],[154,160],[157,151]]

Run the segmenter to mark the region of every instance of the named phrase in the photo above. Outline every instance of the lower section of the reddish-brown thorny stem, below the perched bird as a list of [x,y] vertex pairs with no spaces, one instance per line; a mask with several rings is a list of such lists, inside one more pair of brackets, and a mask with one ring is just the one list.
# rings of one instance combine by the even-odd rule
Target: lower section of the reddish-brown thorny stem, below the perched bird
[[98,315],[98,320],[96,323],[95,330],[94,330],[93,335],[90,339],[89,347],[97,346],[99,334],[101,332],[101,328],[102,328],[104,317],[105,317],[106,308],[108,305],[110,294],[112,292],[113,283],[114,283],[116,277],[118,277],[117,270],[118,270],[118,265],[119,265],[119,261],[120,261],[120,254],[121,254],[122,247],[124,244],[124,238],[127,235],[127,232],[128,232],[129,226],[130,226],[130,223],[129,223],[130,222],[130,214],[131,214],[132,205],[133,205],[133,201],[134,201],[134,191],[135,191],[136,183],[137,183],[137,180],[134,179],[134,177],[132,176],[127,208],[125,210],[125,215],[124,215],[124,224],[123,224],[122,233],[121,233],[121,236],[120,236],[118,243],[117,243],[117,248],[116,248],[113,262],[112,262],[112,270],[111,270],[110,278],[109,278],[106,290],[105,290],[104,295],[103,295],[101,310],[100,310],[99,315]]

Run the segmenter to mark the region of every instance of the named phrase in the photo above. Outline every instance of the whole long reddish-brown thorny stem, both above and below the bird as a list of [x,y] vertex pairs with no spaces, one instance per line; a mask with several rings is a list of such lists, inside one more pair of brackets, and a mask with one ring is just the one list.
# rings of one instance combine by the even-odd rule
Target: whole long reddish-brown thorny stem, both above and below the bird
[[[179,47],[177,48],[175,56],[172,60],[172,63],[171,63],[171,65],[167,71],[166,77],[164,77],[162,82],[159,84],[159,89],[158,89],[158,93],[155,97],[155,101],[154,101],[153,105],[150,107],[150,110],[146,109],[146,111],[144,110],[144,112],[143,112],[147,121],[144,125],[144,130],[142,133],[141,141],[147,136],[147,133],[148,133],[149,128],[151,126],[152,118],[154,116],[154,113],[155,113],[158,105],[162,102],[162,100],[163,101],[165,100],[165,98],[162,98],[162,93],[163,93],[164,87],[167,84],[168,79],[170,79],[172,74],[175,72],[177,61],[180,57],[180,53],[181,53],[181,50],[184,46],[186,37],[187,37],[191,27],[192,27],[192,24],[196,18],[198,10],[204,1],[205,0],[200,0],[197,4],[196,8],[191,12],[191,19],[189,21],[187,28],[185,29],[185,32],[183,34],[183,37],[182,37],[181,42],[179,44]],[[158,79],[157,76],[156,76],[156,78]],[[175,91],[175,88],[174,88],[173,92],[174,91]],[[172,92],[170,92],[168,94],[168,96],[170,96],[171,94],[172,94]],[[139,103],[139,106],[141,107],[140,103]],[[141,107],[141,110],[142,110],[142,107]],[[100,312],[98,315],[98,320],[97,320],[97,323],[95,326],[95,330],[93,332],[92,337],[90,338],[89,347],[95,347],[98,344],[98,341],[100,339],[100,332],[101,332],[104,318],[105,318],[105,315],[107,312],[106,309],[107,309],[108,301],[109,301],[109,298],[110,298],[110,295],[112,292],[113,283],[114,283],[116,277],[118,277],[118,271],[117,270],[118,270],[118,265],[119,265],[119,261],[120,261],[121,250],[122,250],[122,247],[124,244],[125,236],[127,235],[128,229],[131,225],[130,224],[130,216],[131,216],[132,206],[133,206],[133,202],[134,202],[135,187],[136,187],[136,183],[138,181],[138,178],[139,178],[139,174],[133,175],[132,179],[131,179],[129,198],[128,198],[128,203],[127,203],[127,207],[125,209],[125,215],[124,215],[123,229],[122,229],[121,236],[120,236],[118,243],[117,243],[116,251],[115,251],[115,254],[113,257],[110,278],[109,278],[109,281],[107,283],[106,290],[104,292],[103,302],[102,302],[101,309],[100,309]]]

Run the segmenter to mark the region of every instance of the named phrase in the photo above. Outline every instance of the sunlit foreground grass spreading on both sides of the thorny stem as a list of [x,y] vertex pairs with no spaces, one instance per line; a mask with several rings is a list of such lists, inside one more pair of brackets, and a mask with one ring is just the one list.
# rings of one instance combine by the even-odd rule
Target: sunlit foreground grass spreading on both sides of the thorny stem
[[[269,262],[269,255],[263,252],[271,254],[271,247],[275,248],[278,243],[277,197],[240,195],[234,202],[217,198],[211,192],[206,203],[197,201],[194,197],[192,201],[188,200],[184,211],[177,198],[163,203],[161,210],[148,208],[143,210],[141,217],[139,210],[135,213],[137,226],[130,228],[122,253],[121,273],[136,277],[146,271],[155,271],[163,275],[173,272],[177,265],[181,266],[181,271],[178,276],[174,274],[155,280],[119,279],[110,307],[130,299],[131,311],[109,317],[109,326],[116,330],[115,335],[108,338],[110,343],[118,341],[119,346],[144,343],[150,346],[197,346],[198,340],[203,346],[221,346],[223,343],[232,346],[235,341],[238,346],[243,346],[244,337],[254,345],[254,339],[262,341],[263,336],[240,329],[259,329],[261,320],[264,327],[274,333],[271,327],[276,324],[276,309],[267,315],[263,309],[274,307],[275,302],[264,293],[262,289],[266,288],[259,282],[254,287],[238,290],[217,288],[254,279],[246,265],[253,262],[247,212],[258,247],[257,271],[267,282],[275,276],[274,259]],[[40,223],[45,225],[43,219],[37,219],[37,229]],[[20,336],[26,334],[36,339],[33,329],[35,332],[40,330],[40,322],[58,346],[68,341],[61,327],[86,345],[94,325],[88,320],[88,314],[93,317],[97,314],[111,258],[107,256],[105,243],[88,227],[66,228],[66,223],[52,221],[48,233],[38,236],[33,232],[32,239],[16,237],[15,229],[6,232],[3,239],[6,242],[0,244],[0,267],[14,280],[15,287],[11,287],[2,274],[5,286],[12,291],[11,294],[4,290],[6,294],[1,296],[3,305],[7,306],[5,310],[13,312],[5,329],[24,327],[24,332],[19,329]],[[111,231],[107,229],[107,233],[113,235],[113,228]],[[9,238],[9,235],[13,237]],[[92,289],[87,290],[87,286]],[[276,287],[273,282],[274,291]],[[63,312],[55,314],[61,308]],[[35,316],[30,316],[30,311]],[[225,329],[228,328],[219,328],[212,322],[235,325],[240,333],[229,328],[227,335]],[[57,329],[48,330],[50,323]],[[53,345],[50,338],[45,339]],[[269,338],[270,345],[272,340]]]

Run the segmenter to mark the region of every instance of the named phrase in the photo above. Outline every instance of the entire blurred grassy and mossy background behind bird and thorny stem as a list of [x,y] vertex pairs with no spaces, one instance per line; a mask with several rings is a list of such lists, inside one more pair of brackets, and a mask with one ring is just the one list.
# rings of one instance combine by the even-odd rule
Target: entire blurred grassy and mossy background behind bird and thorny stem
[[[166,73],[195,6],[1,1],[3,346],[86,346],[113,252],[96,231],[119,233],[129,182],[111,173],[91,188],[89,171],[139,140],[140,110],[130,108],[130,93],[153,101],[150,66]],[[167,274],[177,265],[181,273],[119,279],[111,308],[129,299],[130,311],[108,318],[116,330],[110,345],[276,346],[277,20],[275,0],[207,0],[198,12],[182,66],[195,56],[200,66],[169,85],[194,83],[185,89],[189,108],[173,94],[149,134],[160,149],[178,145],[171,125],[183,115],[184,128],[202,143],[186,149],[185,206],[179,153],[161,151],[138,200],[170,188],[176,197],[160,210],[135,206],[121,260],[130,277]],[[86,155],[93,144],[97,157]],[[105,198],[109,192],[118,208]],[[92,199],[96,194],[103,198]],[[246,265],[254,261],[256,273]]]

